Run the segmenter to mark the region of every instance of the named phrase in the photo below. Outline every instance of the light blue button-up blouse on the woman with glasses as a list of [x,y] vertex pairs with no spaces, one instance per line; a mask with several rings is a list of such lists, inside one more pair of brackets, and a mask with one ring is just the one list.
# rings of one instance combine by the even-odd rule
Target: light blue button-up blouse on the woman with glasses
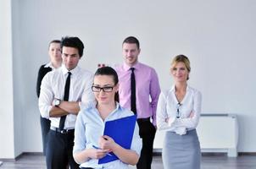
[[[104,125],[107,121],[119,119],[121,117],[132,116],[133,112],[120,106],[116,103],[116,109],[106,117],[105,121],[100,117],[95,104],[84,108],[79,112],[75,123],[75,145],[73,154],[85,149],[92,149],[92,145],[98,146],[98,140],[103,135]],[[135,150],[138,155],[142,150],[142,139],[139,136],[139,128],[136,123],[134,130],[131,150]],[[97,159],[91,159],[81,164],[81,167],[92,168],[128,168],[124,162],[117,160],[105,164],[97,164]]]

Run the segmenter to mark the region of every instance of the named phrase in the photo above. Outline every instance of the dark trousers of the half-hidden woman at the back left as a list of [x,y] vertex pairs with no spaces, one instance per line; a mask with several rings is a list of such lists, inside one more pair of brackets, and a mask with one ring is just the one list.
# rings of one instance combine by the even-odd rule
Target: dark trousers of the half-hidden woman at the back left
[[40,116],[40,123],[41,123],[41,131],[42,131],[42,153],[43,155],[46,155],[47,134],[50,130],[51,121],[47,118],[43,118]]

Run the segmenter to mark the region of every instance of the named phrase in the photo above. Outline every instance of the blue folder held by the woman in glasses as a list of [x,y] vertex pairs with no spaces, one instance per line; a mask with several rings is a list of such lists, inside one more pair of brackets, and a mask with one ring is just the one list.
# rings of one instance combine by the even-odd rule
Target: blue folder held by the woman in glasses
[[[104,135],[108,135],[114,142],[120,144],[125,149],[131,149],[131,140],[134,133],[136,123],[136,115],[130,117],[122,117],[105,123]],[[98,164],[103,164],[111,161],[119,160],[113,152],[110,155],[105,155],[98,160]]]

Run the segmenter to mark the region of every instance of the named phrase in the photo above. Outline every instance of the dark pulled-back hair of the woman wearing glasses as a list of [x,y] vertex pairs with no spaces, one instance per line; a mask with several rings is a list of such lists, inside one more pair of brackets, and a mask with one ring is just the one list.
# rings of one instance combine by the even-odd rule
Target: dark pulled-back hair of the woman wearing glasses
[[[114,85],[117,85],[119,80],[118,80],[118,75],[117,73],[115,72],[114,68],[111,68],[109,66],[106,66],[106,67],[101,67],[101,68],[97,68],[95,74],[94,74],[94,77],[97,76],[97,75],[108,75],[108,76],[112,76],[113,77],[113,80],[114,80]],[[119,97],[119,94],[118,92],[116,92],[114,94],[114,101],[117,101],[119,102],[120,101],[120,97]]]

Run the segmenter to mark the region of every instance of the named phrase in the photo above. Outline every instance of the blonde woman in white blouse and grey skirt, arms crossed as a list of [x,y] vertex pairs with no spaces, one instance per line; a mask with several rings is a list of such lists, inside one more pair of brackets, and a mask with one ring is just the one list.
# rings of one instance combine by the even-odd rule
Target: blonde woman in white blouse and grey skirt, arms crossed
[[190,61],[174,57],[170,74],[174,85],[163,90],[157,108],[157,126],[165,130],[162,158],[165,169],[199,169],[201,150],[196,127],[201,112],[201,93],[187,85]]

